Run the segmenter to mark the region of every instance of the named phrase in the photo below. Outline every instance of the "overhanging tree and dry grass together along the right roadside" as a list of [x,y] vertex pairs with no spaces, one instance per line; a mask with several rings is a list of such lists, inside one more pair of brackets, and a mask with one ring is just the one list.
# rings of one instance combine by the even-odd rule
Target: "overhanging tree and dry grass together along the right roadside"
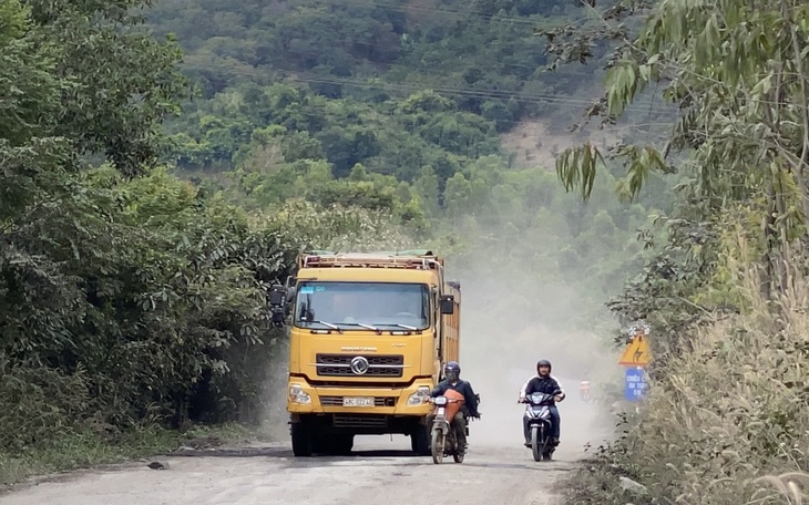
[[[571,498],[801,503],[809,6],[663,0],[643,17],[637,37],[618,44],[603,112],[619,115],[645,86],[680,112],[665,145],[628,144],[613,162],[623,159],[637,193],[655,172],[684,181],[667,239],[611,303],[654,328],[648,400],[575,477]],[[566,42],[578,37],[593,33]],[[597,147],[573,147],[557,169],[586,197],[600,159]]]

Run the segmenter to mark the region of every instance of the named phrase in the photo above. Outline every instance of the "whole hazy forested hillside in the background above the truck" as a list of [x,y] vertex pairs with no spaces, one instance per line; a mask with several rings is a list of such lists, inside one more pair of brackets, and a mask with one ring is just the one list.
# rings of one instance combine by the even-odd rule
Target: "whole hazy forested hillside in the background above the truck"
[[199,86],[170,128],[190,169],[233,166],[255,130],[278,124],[317,140],[338,177],[361,163],[412,182],[428,166],[443,187],[524,120],[569,128],[603,75],[593,62],[549,72],[543,30],[600,22],[575,1],[165,0],[149,19],[176,33]]

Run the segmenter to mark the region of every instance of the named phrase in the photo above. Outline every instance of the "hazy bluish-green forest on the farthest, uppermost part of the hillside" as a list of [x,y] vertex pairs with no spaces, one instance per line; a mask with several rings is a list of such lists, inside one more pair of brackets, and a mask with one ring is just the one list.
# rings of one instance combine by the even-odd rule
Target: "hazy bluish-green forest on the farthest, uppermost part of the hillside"
[[[537,28],[582,18],[575,3],[459,0],[380,2],[166,0],[150,12],[174,32],[206,96],[243,82],[288,78],[329,97],[372,102],[442,90],[500,131],[571,93],[581,73],[543,73]],[[603,52],[603,51],[601,51]],[[437,72],[441,69],[441,72]]]

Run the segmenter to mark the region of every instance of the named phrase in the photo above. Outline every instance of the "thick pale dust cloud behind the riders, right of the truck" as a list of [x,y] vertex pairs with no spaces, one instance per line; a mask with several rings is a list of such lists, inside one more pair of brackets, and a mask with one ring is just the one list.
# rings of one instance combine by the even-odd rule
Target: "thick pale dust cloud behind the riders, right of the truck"
[[[582,293],[576,288],[551,280],[551,272],[535,271],[531,261],[523,268],[504,268],[498,259],[536,247],[547,246],[510,243],[504,250],[488,247],[458,265],[448,261],[448,277],[461,281],[461,375],[481,396],[482,419],[470,425],[470,447],[522,445],[525,405],[516,403],[519,391],[544,358],[566,393],[557,405],[557,454],[576,458],[585,444],[597,447],[611,439],[615,425],[605,402],[580,399],[578,383],[590,380],[597,387],[613,380],[619,371],[618,352],[606,343],[610,336],[581,328]],[[543,277],[549,280],[536,280]],[[606,310],[598,318],[602,328],[614,323],[617,329]]]

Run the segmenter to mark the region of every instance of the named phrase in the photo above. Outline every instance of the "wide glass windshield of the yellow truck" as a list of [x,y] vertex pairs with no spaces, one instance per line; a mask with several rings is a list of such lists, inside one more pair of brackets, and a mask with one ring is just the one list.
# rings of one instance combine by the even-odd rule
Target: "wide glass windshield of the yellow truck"
[[317,329],[411,329],[430,326],[427,285],[300,282],[295,324]]

